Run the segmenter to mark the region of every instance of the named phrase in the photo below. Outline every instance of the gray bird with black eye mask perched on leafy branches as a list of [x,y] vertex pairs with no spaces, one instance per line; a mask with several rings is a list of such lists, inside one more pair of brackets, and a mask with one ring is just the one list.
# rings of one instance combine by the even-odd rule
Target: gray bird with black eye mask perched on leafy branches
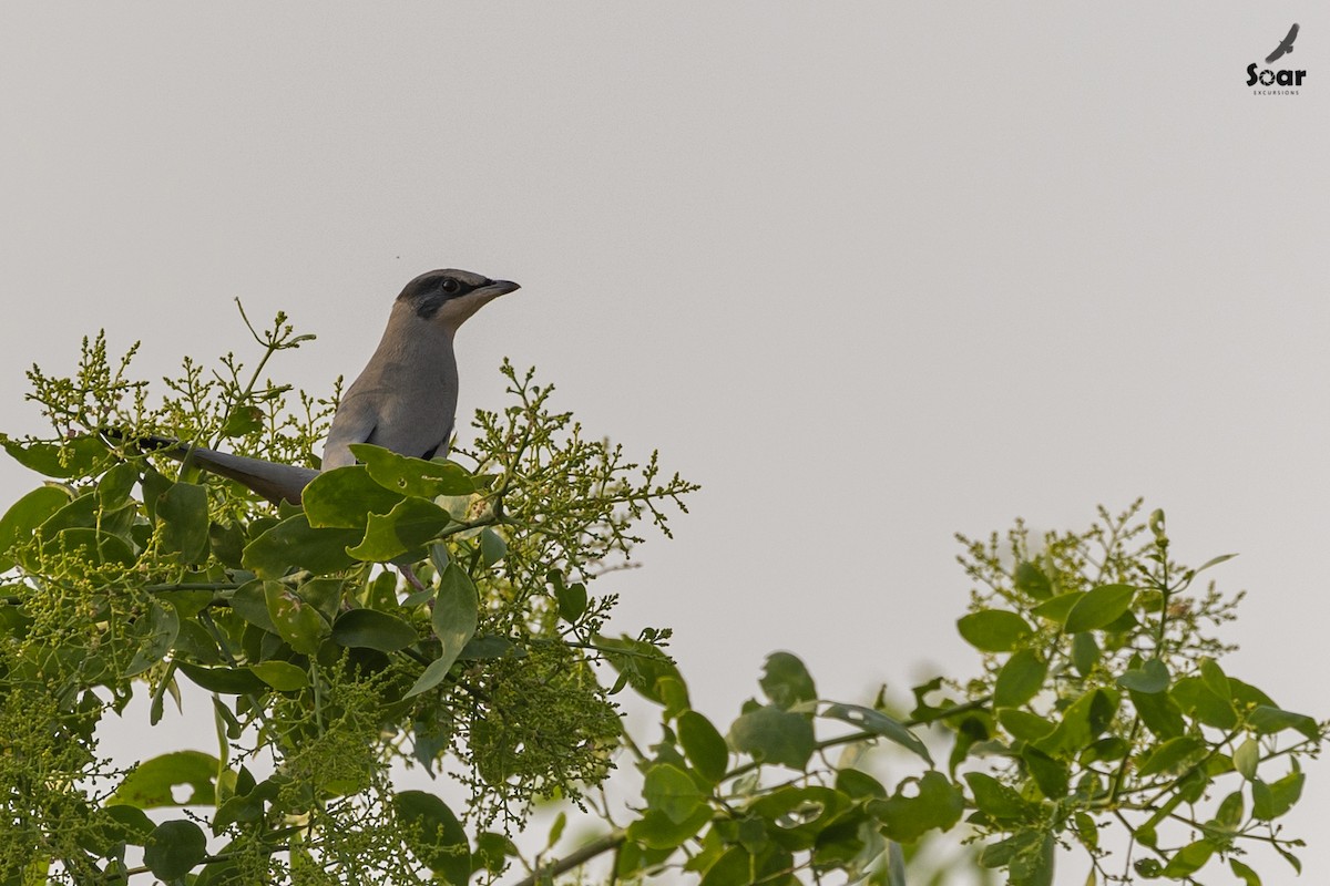
[[[356,442],[418,458],[447,454],[458,409],[452,337],[485,303],[517,288],[508,280],[456,270],[427,271],[407,283],[392,304],[378,349],[338,405],[323,446],[322,469],[355,464],[350,445]],[[301,493],[319,476],[311,468],[233,456],[162,437],[136,442],[243,484],[274,503],[299,503]]]

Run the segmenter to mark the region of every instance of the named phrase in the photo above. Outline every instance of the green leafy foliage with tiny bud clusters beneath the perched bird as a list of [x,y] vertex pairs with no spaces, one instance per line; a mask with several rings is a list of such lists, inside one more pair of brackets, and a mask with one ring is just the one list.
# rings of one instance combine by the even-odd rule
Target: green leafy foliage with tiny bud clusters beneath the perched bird
[[[0,440],[52,478],[0,518],[0,885],[899,886],[948,882],[920,847],[952,833],[971,845],[951,865],[1016,886],[1052,883],[1067,847],[1089,883],[1221,863],[1260,883],[1253,843],[1297,866],[1278,822],[1326,725],[1221,668],[1241,595],[1194,587],[1226,558],[1176,563],[1160,511],[962,539],[978,588],[958,630],[980,669],[915,687],[908,713],[886,692],[823,699],[777,652],[726,725],[692,707],[669,632],[609,636],[614,596],[591,590],[696,486],[587,440],[529,372],[504,364],[512,404],[480,412],[455,461],[356,448],[302,507],[105,433],[315,466],[336,397],[289,409],[262,371],[307,336],[278,316],[255,339],[247,379],[233,355],[211,375],[186,360],[152,408],[133,351],[113,364],[101,337],[72,377],[29,373],[55,433]],[[211,693],[217,753],[124,770],[98,753],[101,717],[136,693],[152,725],[168,697],[197,716],[207,696],[185,684]],[[625,733],[628,691],[658,708],[654,744]],[[625,758],[610,781],[637,777],[641,798],[621,809],[606,780]],[[394,765],[466,801],[402,789]],[[547,798],[602,830],[527,857]]]

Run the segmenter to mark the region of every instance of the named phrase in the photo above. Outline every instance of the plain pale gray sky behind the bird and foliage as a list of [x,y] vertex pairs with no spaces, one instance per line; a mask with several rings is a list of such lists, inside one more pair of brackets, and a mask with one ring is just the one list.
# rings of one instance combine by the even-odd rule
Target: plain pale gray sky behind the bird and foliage
[[[1294,20],[1301,94],[1253,96]],[[829,697],[971,672],[951,534],[1136,495],[1241,553],[1230,673],[1330,711],[1322,4],[11,3],[0,84],[9,433],[98,328],[160,376],[246,352],[241,296],[326,393],[471,268],[523,290],[460,416],[507,355],[704,484],[602,590],[717,720],[777,648]],[[1327,818],[1319,765],[1305,882]]]

